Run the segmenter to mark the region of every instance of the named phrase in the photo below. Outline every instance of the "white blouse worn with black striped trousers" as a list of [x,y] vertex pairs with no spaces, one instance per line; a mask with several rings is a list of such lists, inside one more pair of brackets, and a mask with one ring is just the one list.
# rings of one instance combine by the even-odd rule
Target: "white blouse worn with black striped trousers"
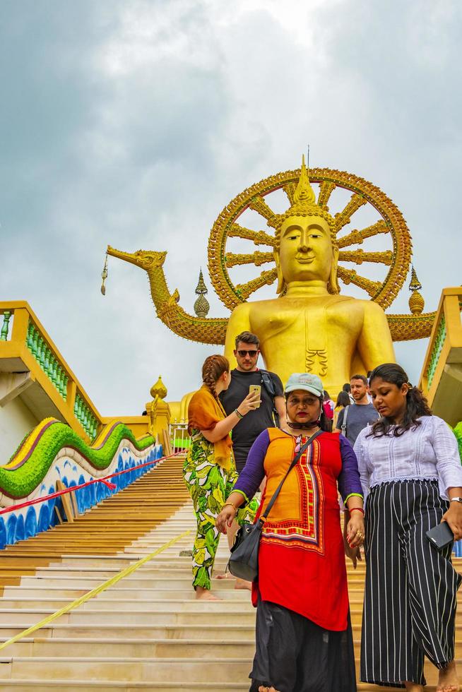
[[403,480],[437,480],[439,494],[447,500],[447,489],[462,487],[461,458],[456,436],[442,418],[420,417],[420,426],[393,437],[374,437],[367,426],[357,436],[355,453],[365,496],[381,483]]

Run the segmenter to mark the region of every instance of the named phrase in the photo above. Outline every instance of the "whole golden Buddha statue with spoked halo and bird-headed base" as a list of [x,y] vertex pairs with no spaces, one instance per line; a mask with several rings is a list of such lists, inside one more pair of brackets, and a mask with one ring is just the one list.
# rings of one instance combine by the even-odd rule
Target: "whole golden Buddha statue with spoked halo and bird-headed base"
[[[175,334],[225,345],[225,354],[234,365],[235,337],[249,330],[259,336],[266,367],[283,381],[292,372],[312,372],[336,395],[352,374],[366,374],[382,362],[393,362],[392,339],[429,336],[435,313],[423,313],[424,301],[420,294],[414,295],[416,291],[413,314],[384,313],[403,286],[412,254],[408,227],[396,205],[379,188],[348,172],[314,169],[311,175],[319,183],[317,203],[303,160],[300,172],[276,174],[254,184],[218,215],[208,241],[208,268],[215,291],[232,311],[229,317],[207,317],[197,305],[196,316],[182,308],[178,290],[170,291],[167,286],[165,251],[129,253],[108,246],[107,253],[146,271],[157,316]],[[336,186],[350,190],[352,196],[332,217],[327,202]],[[287,194],[290,207],[276,214],[266,203],[266,195],[280,189]],[[367,203],[379,220],[341,234],[355,211]],[[275,234],[244,227],[240,216],[247,209],[265,218]],[[392,237],[393,251],[355,249],[381,233]],[[266,245],[271,251],[236,254],[227,250],[229,238]],[[234,286],[227,273],[227,268],[236,265],[259,267],[263,263],[276,266],[245,284]],[[360,276],[342,263],[381,263],[389,271],[381,282]],[[345,285],[353,283],[365,290],[371,300],[340,295],[338,278]],[[276,280],[277,298],[249,301],[252,292]],[[201,292],[206,292],[205,285]],[[183,413],[185,405],[186,400],[180,407]]]

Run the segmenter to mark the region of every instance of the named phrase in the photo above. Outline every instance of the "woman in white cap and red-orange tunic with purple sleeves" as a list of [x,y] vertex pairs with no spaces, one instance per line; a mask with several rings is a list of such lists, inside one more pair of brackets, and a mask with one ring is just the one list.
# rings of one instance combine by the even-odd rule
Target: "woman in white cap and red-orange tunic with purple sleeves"
[[300,446],[322,431],[289,473],[263,525],[252,592],[257,614],[250,692],[356,691],[338,491],[350,511],[345,537],[355,559],[364,539],[362,487],[352,446],[330,432],[323,393],[316,375],[290,376],[290,433],[261,433],[217,519],[225,532],[263,477],[259,513],[265,511]]

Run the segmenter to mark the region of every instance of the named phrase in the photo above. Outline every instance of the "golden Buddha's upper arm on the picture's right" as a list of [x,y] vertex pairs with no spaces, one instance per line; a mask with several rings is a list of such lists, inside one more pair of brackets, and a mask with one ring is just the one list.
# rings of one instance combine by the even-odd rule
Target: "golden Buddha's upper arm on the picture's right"
[[382,363],[396,362],[389,323],[381,307],[372,301],[365,302],[364,321],[357,346],[366,371]]

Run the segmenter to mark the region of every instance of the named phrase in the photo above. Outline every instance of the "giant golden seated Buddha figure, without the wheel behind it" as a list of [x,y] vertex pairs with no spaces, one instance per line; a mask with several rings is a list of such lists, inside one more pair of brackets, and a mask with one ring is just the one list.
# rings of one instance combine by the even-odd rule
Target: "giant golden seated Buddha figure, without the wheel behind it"
[[268,370],[283,382],[293,372],[312,372],[332,396],[356,372],[394,362],[383,309],[339,294],[335,222],[316,204],[304,160],[294,201],[279,217],[276,241],[279,297],[245,302],[232,311],[225,343],[230,362],[235,363],[236,335],[248,330],[258,335]]

